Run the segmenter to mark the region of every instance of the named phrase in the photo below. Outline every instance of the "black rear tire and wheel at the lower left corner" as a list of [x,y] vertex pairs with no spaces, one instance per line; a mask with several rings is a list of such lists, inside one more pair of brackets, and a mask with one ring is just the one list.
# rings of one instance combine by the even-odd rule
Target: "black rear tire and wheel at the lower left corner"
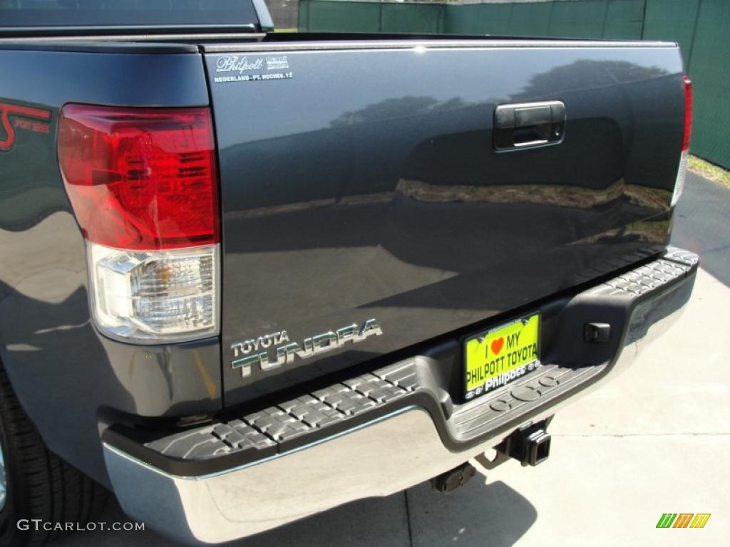
[[75,528],[99,516],[107,497],[47,449],[0,363],[0,547],[39,546],[66,535],[65,523]]

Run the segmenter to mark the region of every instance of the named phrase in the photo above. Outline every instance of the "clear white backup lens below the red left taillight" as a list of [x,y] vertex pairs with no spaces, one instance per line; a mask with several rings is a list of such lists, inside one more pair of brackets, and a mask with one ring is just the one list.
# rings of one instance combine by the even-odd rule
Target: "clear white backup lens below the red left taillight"
[[102,332],[148,344],[218,335],[218,244],[158,251],[88,247],[93,312]]

